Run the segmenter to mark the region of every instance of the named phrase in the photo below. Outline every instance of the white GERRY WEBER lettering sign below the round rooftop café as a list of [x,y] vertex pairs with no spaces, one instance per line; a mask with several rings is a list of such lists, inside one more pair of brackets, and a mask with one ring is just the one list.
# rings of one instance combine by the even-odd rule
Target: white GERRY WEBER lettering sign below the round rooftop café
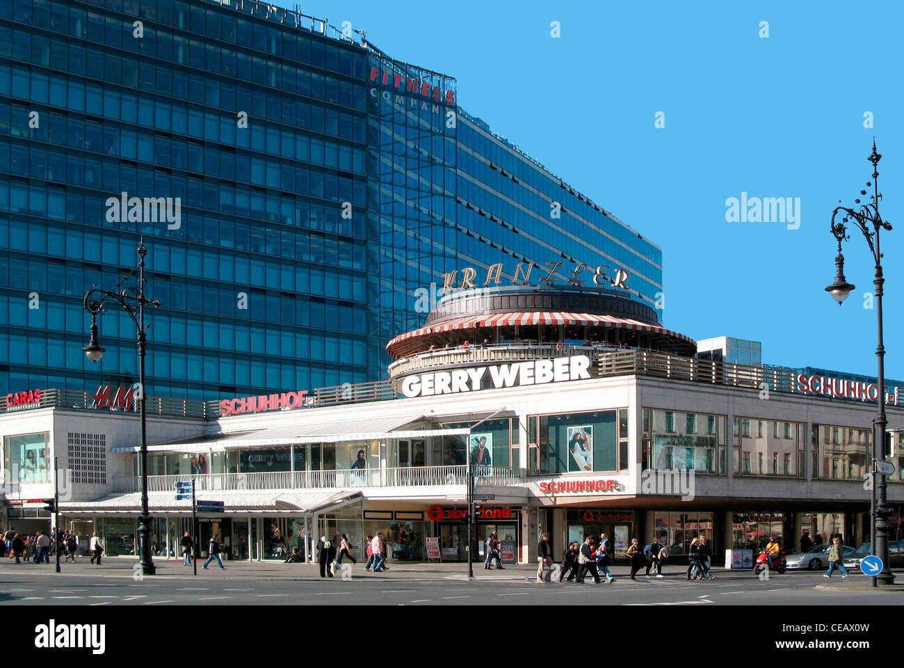
[[434,371],[408,376],[401,383],[404,396],[455,395],[488,389],[543,385],[564,380],[585,380],[590,377],[590,358],[578,355],[572,358],[535,359],[531,362],[499,364],[493,367],[457,368],[452,371]]

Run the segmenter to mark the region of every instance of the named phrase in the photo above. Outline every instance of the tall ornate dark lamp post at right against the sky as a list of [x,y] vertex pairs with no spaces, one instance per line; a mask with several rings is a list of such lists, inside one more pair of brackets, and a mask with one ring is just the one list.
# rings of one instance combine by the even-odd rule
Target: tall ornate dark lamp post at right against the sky
[[[882,253],[880,251],[879,233],[880,230],[890,230],[891,225],[882,220],[879,215],[879,202],[882,194],[879,192],[879,183],[877,181],[879,172],[876,167],[879,165],[881,155],[876,152],[876,142],[872,142],[872,153],[866,158],[872,163],[872,182],[867,182],[866,186],[872,186],[873,191],[868,204],[862,204],[861,200],[855,199],[854,204],[858,206],[856,210],[847,206],[836,206],[832,212],[832,234],[838,240],[838,255],[835,256],[835,281],[825,290],[832,295],[834,301],[841,303],[847,299],[848,295],[854,289],[854,286],[847,282],[844,278],[844,256],[842,254],[842,242],[848,240],[846,223],[856,224],[866,243],[870,245],[870,251],[873,259],[876,261],[876,272],[873,278],[875,286],[876,298],[876,314],[879,326],[879,345],[876,348],[876,357],[879,358],[879,396],[877,397],[877,413],[876,419],[873,421],[872,428],[872,467],[873,484],[872,484],[872,510],[871,524],[875,539],[872,541],[872,553],[882,560],[882,572],[875,577],[875,583],[878,585],[894,584],[894,576],[889,568],[889,518],[891,517],[891,508],[888,504],[888,496],[886,490],[885,474],[875,472],[876,460],[885,459],[885,427],[888,420],[885,416],[885,347],[882,345],[882,285],[885,279],[882,277]],[[866,196],[867,191],[861,190],[861,196]],[[839,200],[841,201],[841,200]],[[835,217],[842,215],[840,223],[835,223]],[[878,477],[878,480],[876,478]]]

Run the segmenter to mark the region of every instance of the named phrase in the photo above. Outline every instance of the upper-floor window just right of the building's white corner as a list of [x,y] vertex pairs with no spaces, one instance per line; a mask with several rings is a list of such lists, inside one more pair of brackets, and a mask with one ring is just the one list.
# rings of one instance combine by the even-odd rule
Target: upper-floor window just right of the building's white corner
[[727,444],[724,415],[644,409],[645,468],[718,472],[717,446]]

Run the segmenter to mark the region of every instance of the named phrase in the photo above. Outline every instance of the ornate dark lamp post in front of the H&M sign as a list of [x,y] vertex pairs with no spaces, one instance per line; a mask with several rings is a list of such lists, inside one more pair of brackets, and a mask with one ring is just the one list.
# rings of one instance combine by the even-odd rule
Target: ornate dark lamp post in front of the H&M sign
[[109,301],[115,302],[123,310],[128,313],[129,318],[135,323],[137,333],[138,348],[138,387],[135,400],[138,402],[138,415],[141,421],[141,447],[140,447],[140,467],[141,467],[141,514],[138,516],[138,552],[140,556],[141,571],[144,575],[154,575],[156,568],[154,560],[151,558],[151,518],[147,510],[147,428],[145,417],[145,349],[146,349],[146,331],[145,324],[145,307],[160,306],[160,302],[156,300],[148,300],[145,297],[145,238],[141,237],[138,244],[138,278],[137,285],[121,287],[122,283],[135,275],[135,272],[123,277],[112,291],[99,290],[94,286],[85,294],[84,306],[91,314],[90,341],[85,348],[85,355],[92,361],[97,362],[103,357],[104,348],[101,348],[98,342],[98,315],[107,312],[107,304]]

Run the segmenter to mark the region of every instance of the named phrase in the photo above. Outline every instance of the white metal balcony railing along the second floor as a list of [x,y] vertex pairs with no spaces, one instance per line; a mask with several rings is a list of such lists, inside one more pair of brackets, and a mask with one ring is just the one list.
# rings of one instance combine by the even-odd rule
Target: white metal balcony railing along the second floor
[[[175,482],[195,481],[196,491],[347,490],[355,487],[437,487],[466,484],[466,465],[400,466],[397,468],[149,475],[147,491],[173,491]],[[511,485],[523,481],[520,471],[501,466],[476,467],[476,484]],[[139,491],[141,478],[111,483],[112,491]]]

